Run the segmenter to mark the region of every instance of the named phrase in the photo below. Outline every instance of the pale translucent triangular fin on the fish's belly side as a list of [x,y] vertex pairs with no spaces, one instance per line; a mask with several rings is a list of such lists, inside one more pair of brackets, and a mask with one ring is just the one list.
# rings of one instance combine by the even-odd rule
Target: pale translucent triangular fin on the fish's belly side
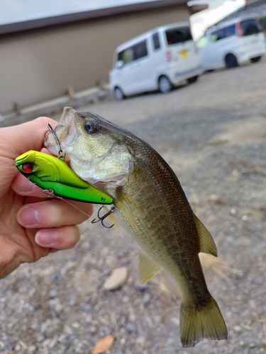
[[157,273],[162,270],[162,267],[153,261],[147,253],[140,251],[138,257],[138,281],[140,285],[144,285]]

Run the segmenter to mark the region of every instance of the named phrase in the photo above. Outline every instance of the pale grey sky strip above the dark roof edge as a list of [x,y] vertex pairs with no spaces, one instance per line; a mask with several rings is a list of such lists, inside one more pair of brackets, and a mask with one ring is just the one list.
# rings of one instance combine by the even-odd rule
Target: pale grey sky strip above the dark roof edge
[[154,0],[0,0],[0,25]]

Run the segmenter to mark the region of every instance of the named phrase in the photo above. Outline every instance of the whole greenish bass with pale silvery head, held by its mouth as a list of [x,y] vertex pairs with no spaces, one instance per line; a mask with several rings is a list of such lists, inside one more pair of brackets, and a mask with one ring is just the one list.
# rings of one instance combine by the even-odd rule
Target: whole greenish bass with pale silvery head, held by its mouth
[[[92,112],[66,107],[55,133],[74,172],[113,198],[112,217],[140,246],[140,284],[162,268],[177,282],[182,346],[226,339],[226,323],[199,260],[200,252],[217,256],[214,239],[167,162],[139,137]],[[57,151],[52,135],[46,147]]]

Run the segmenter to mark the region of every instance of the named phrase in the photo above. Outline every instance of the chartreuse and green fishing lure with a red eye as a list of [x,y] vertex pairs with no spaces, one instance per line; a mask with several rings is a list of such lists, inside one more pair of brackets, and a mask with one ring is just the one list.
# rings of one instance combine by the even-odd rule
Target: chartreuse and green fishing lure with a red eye
[[51,197],[68,198],[94,204],[113,204],[113,198],[79,178],[55,156],[30,150],[15,159],[16,167]]

